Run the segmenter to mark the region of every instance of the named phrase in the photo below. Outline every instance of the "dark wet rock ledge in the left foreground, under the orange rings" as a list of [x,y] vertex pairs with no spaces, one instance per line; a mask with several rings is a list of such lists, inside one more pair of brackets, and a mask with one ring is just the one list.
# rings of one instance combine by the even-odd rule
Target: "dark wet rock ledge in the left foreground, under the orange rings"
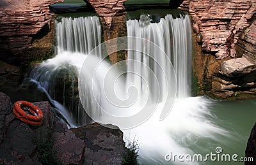
[[90,124],[68,129],[54,117],[48,102],[42,126],[24,124],[0,92],[0,164],[122,164],[125,144],[120,130]]

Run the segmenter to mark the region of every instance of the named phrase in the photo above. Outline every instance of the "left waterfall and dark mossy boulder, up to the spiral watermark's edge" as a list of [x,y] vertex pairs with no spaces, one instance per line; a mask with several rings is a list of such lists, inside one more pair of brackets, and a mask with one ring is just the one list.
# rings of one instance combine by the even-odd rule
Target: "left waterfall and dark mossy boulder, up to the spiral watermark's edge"
[[[63,17],[56,25],[56,57],[38,64],[31,69],[28,78],[40,84],[39,88],[49,93],[51,99],[60,102],[70,126],[88,124],[91,119],[86,115],[79,101],[78,74],[86,54],[101,43],[101,27],[98,17]],[[101,58],[98,51],[95,56]],[[52,101],[51,101],[52,102]],[[56,103],[56,102],[53,102]],[[68,116],[67,116],[68,115]]]

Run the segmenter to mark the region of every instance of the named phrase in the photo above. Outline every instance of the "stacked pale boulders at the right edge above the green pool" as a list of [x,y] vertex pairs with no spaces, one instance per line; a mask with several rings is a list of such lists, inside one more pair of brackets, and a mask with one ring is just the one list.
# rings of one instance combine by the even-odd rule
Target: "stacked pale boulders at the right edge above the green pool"
[[221,63],[212,82],[212,93],[220,97],[256,96],[256,20],[237,41],[242,57]]

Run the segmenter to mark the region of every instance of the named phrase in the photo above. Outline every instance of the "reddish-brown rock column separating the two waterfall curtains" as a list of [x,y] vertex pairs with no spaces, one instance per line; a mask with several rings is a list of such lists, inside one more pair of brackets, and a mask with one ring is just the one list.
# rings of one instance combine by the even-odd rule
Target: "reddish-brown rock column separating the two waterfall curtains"
[[[126,12],[124,2],[127,0],[84,0],[99,15],[102,24],[104,41],[109,39],[126,36]],[[116,44],[108,45],[107,52],[111,49],[116,50]],[[113,64],[125,59],[124,52],[109,54],[109,59]]]

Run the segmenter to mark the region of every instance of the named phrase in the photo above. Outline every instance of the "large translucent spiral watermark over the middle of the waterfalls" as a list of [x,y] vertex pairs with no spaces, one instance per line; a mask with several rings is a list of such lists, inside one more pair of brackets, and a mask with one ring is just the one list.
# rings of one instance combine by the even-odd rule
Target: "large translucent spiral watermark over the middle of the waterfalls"
[[[113,47],[116,43],[118,45]],[[154,48],[157,57],[143,47],[134,47],[134,43]],[[153,62],[154,69],[150,68],[149,63],[148,65],[144,64],[138,59],[127,59],[106,68],[103,61],[108,54],[104,54],[100,60],[95,59],[94,55],[104,48],[108,54],[122,50],[132,52],[139,56],[139,59],[143,57]],[[164,62],[159,57],[162,57]],[[127,61],[129,62],[127,71],[116,70],[117,67],[115,66],[125,66]],[[130,65],[131,68],[138,66],[142,69],[131,69]],[[157,71],[154,71],[156,69]],[[143,74],[146,72],[147,75]],[[118,80],[121,81],[120,77],[125,74],[127,74],[128,80],[131,81],[120,85]],[[137,77],[137,79],[129,79],[129,77]],[[136,83],[138,81],[142,83]],[[125,84],[125,86],[122,84]],[[177,92],[176,73],[164,50],[152,41],[136,37],[109,39],[94,48],[83,63],[79,73],[78,85],[79,97],[86,113],[94,121],[111,123],[119,126],[120,129],[131,129],[140,126],[155,113],[156,109],[160,107],[160,103],[161,108],[158,109],[161,109],[159,120],[164,120],[172,110]],[[166,89],[163,90],[163,87],[166,87]],[[116,91],[122,91],[126,94],[125,97],[119,97],[121,95],[118,96]],[[91,96],[91,101],[88,101],[88,95]],[[93,111],[90,104],[94,106]],[[106,127],[116,129],[108,125]]]

